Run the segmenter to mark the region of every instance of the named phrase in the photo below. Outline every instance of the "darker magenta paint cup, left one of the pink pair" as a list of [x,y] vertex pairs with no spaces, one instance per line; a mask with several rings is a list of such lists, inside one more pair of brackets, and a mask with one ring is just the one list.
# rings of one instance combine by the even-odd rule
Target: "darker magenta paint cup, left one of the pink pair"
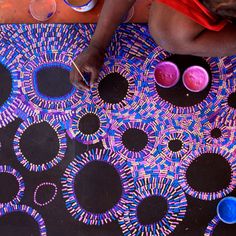
[[178,83],[180,72],[173,62],[165,61],[157,65],[154,77],[156,83],[162,88],[171,88]]

